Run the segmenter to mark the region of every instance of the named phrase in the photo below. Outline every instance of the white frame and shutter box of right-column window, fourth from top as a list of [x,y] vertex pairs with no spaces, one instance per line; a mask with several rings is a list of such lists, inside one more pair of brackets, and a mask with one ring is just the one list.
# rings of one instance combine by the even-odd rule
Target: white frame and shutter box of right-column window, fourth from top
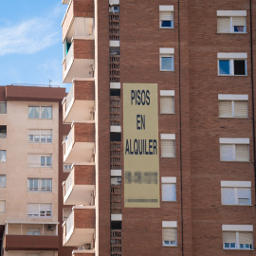
[[[221,145],[231,145],[232,146],[232,159],[231,160],[222,160],[222,155],[221,155],[221,149],[220,149],[220,160],[223,162],[244,162],[236,159],[236,145],[247,145],[248,147],[248,161],[249,161],[249,138],[247,137],[220,137],[219,138],[220,142],[220,148]],[[247,161],[247,162],[248,162]]]

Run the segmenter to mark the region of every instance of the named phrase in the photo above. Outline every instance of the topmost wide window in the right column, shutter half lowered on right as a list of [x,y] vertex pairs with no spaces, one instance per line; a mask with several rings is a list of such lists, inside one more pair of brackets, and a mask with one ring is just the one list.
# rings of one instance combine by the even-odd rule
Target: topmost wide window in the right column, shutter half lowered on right
[[217,10],[218,33],[246,33],[247,10]]

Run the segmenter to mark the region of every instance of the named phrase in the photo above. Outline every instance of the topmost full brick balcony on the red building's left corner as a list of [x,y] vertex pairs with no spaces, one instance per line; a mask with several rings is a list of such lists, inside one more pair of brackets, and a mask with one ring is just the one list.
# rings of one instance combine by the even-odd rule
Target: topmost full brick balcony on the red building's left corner
[[63,42],[72,38],[94,39],[94,1],[68,0],[70,2],[64,14]]

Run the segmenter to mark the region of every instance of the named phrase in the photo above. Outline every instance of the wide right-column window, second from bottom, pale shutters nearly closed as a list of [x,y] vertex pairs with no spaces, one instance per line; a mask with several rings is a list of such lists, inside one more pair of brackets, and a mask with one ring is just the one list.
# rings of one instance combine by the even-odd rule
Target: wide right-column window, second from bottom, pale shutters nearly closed
[[251,205],[250,181],[221,181],[222,205]]

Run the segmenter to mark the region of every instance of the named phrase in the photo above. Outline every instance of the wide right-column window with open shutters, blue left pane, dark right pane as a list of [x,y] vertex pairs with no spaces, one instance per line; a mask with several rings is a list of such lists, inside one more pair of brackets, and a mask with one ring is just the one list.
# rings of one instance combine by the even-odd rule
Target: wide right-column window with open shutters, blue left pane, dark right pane
[[218,53],[218,75],[246,76],[247,53]]

